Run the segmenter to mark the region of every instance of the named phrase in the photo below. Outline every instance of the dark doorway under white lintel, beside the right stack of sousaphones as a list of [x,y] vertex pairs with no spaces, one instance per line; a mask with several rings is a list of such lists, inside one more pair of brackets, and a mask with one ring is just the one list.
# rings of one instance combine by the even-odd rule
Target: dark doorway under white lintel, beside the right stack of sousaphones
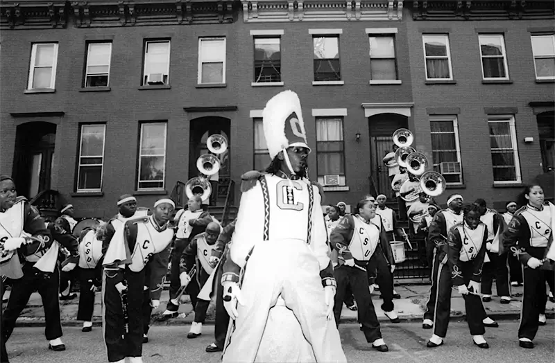
[[393,151],[393,132],[404,127],[409,121],[407,116],[400,114],[377,114],[368,117],[368,130],[370,133],[370,177],[371,183],[378,194],[391,195],[391,183],[388,177],[388,168],[382,159]]

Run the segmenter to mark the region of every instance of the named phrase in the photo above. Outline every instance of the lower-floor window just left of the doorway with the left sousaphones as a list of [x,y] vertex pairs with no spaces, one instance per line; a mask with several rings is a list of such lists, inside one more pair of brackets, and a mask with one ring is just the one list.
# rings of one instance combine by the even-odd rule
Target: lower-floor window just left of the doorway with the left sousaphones
[[163,189],[166,176],[166,123],[143,123],[139,145],[139,190]]

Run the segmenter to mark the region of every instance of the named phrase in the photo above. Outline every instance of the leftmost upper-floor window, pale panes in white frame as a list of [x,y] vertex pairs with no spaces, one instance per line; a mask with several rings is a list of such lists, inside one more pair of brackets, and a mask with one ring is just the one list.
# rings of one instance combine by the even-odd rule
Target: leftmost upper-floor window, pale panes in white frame
[[57,43],[33,44],[27,89],[54,89],[57,62]]

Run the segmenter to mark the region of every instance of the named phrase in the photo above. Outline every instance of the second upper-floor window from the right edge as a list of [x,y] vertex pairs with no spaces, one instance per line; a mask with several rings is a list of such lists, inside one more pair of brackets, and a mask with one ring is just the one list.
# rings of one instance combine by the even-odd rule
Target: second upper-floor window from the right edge
[[484,80],[509,79],[503,35],[479,35],[481,72]]

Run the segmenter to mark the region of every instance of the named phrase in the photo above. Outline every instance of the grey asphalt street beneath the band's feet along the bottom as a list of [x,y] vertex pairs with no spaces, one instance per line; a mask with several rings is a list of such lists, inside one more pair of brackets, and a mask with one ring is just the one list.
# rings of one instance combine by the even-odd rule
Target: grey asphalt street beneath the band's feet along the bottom
[[[452,319],[445,344],[438,348],[426,348],[431,330],[423,330],[417,322],[382,324],[382,334],[390,351],[378,353],[366,343],[357,324],[339,327],[343,350],[350,363],[547,363],[554,362],[555,321],[549,319],[547,326],[540,327],[536,336],[536,348],[518,346],[518,321],[501,321],[499,328],[488,328],[486,339],[489,349],[472,344],[468,326],[461,319]],[[220,353],[205,353],[205,347],[214,337],[213,326],[205,326],[203,335],[187,339],[189,326],[154,326],[149,333],[150,342],[143,346],[145,363],[217,363]],[[39,327],[16,328],[8,340],[11,363],[104,363],[105,346],[101,328],[91,333],[81,333],[78,327],[65,327],[63,341],[65,352],[48,350],[44,329]]]

